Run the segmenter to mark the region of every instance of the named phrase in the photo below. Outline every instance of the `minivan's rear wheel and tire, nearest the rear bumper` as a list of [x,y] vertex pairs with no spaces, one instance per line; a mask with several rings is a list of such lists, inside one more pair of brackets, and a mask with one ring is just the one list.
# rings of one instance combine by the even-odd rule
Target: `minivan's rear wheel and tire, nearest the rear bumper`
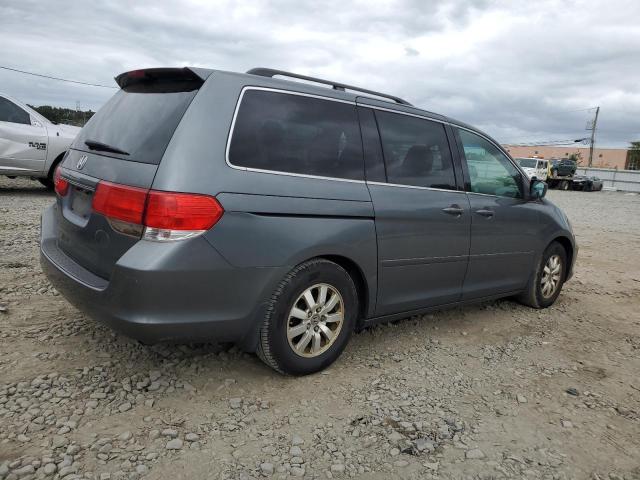
[[274,370],[308,375],[331,365],[358,318],[351,276],[323,258],[295,267],[274,292],[260,329],[257,354]]

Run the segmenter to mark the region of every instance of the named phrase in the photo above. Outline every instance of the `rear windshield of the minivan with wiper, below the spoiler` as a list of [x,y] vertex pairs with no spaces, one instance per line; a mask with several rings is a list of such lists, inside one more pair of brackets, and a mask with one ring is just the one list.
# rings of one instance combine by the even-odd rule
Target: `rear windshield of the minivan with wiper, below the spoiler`
[[196,93],[120,90],[87,122],[73,148],[89,151],[85,142],[99,143],[126,152],[96,151],[101,155],[157,165]]

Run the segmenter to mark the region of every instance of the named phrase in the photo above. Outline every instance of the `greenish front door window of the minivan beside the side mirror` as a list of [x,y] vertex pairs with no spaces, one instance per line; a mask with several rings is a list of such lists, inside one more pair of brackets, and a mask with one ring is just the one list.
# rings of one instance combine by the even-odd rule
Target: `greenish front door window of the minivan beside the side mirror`
[[499,197],[522,198],[522,175],[493,143],[457,129],[469,169],[471,191]]

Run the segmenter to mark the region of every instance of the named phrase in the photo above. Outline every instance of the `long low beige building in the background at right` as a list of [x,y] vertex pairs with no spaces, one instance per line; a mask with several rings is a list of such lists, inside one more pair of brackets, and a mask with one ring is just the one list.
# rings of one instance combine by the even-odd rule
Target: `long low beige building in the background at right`
[[[512,157],[539,157],[539,158],[566,158],[573,153],[579,155],[579,165],[586,167],[589,164],[589,147],[548,147],[533,146],[521,147],[515,145],[503,145]],[[596,148],[593,152],[593,167],[617,168],[628,170],[629,151],[623,148]]]

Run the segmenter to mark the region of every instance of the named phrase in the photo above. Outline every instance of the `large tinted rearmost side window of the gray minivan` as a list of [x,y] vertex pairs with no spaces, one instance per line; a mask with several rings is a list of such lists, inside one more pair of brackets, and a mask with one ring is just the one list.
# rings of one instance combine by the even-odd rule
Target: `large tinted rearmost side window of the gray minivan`
[[231,133],[234,166],[322,177],[364,179],[355,105],[265,90],[246,90]]

